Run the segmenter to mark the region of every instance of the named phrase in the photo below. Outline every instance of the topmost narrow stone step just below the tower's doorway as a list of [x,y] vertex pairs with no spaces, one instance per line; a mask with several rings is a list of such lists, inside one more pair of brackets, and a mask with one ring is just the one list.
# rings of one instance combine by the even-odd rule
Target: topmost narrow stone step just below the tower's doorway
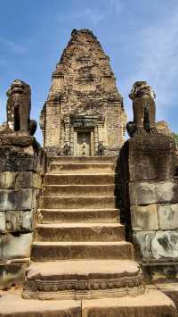
[[48,156],[48,163],[117,163],[116,156]]

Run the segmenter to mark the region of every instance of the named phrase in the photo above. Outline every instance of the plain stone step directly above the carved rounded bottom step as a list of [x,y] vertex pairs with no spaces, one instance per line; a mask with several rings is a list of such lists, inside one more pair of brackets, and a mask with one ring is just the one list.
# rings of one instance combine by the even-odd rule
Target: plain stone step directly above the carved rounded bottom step
[[32,261],[74,259],[134,259],[134,248],[129,242],[37,242],[32,245]]

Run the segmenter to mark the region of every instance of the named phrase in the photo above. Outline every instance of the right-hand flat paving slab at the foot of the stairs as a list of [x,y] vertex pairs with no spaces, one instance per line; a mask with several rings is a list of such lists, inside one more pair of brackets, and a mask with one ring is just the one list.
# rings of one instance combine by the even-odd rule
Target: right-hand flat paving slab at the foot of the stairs
[[157,289],[149,289],[139,296],[85,299],[82,301],[82,317],[99,316],[175,317],[177,311],[172,300],[165,294]]

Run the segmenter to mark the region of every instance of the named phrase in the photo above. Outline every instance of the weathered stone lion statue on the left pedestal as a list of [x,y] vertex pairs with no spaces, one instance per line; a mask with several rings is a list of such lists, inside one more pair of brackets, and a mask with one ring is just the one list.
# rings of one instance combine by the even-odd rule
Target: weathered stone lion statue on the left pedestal
[[34,135],[36,121],[30,120],[31,89],[20,79],[15,79],[7,91],[7,127],[10,131],[20,131]]

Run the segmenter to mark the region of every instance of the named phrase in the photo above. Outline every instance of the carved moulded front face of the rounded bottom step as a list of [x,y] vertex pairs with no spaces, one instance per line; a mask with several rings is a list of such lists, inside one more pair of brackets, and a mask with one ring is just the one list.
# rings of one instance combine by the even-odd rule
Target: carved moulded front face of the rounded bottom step
[[100,298],[103,292],[105,296],[107,294],[109,296],[109,292],[112,292],[112,296],[135,296],[143,294],[144,291],[142,271],[139,269],[137,274],[124,272],[113,279],[28,279],[25,283],[23,298],[40,296],[43,299],[44,293],[47,292],[51,292],[51,298],[59,296],[59,298],[67,299],[77,298],[82,294],[83,298]]

